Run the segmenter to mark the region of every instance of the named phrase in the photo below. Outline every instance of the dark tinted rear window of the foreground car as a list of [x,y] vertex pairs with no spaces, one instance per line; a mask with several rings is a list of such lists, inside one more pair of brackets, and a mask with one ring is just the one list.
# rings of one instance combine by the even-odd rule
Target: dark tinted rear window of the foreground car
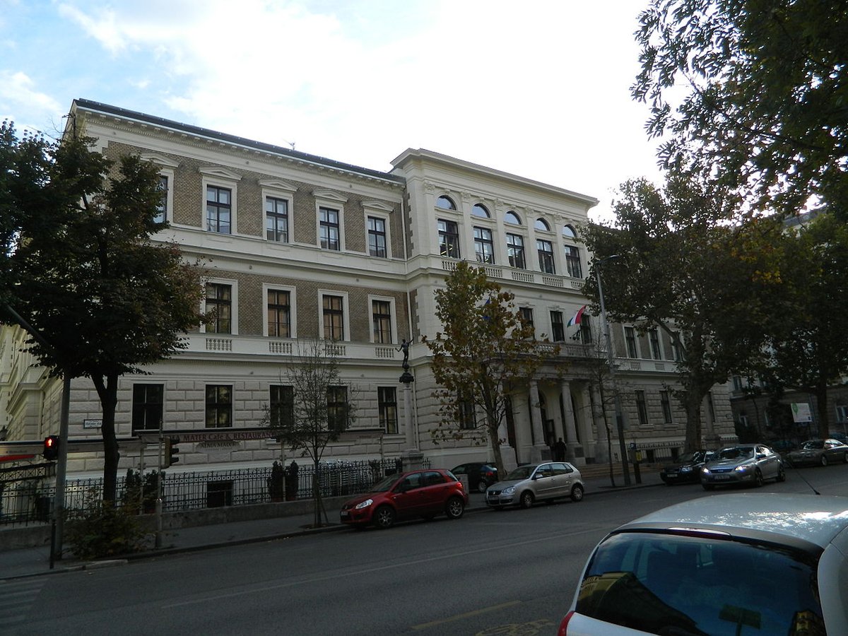
[[577,612],[679,636],[824,636],[815,561],[773,544],[620,533],[589,562]]

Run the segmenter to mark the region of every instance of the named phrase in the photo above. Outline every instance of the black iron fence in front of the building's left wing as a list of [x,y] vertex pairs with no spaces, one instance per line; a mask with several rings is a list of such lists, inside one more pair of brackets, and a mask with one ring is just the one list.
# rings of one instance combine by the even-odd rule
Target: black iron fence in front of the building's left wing
[[[425,468],[429,461],[424,460]],[[264,504],[271,501],[311,499],[367,492],[385,475],[404,470],[402,461],[327,461],[316,467],[295,462],[288,466],[240,468],[228,471],[163,471],[162,510],[198,510],[226,505]],[[128,471],[117,479],[115,505],[134,512],[153,512],[156,471],[143,475]],[[0,483],[0,525],[29,525],[50,520],[55,486],[52,483]],[[103,478],[73,479],[65,483],[65,510],[86,510],[103,499]]]

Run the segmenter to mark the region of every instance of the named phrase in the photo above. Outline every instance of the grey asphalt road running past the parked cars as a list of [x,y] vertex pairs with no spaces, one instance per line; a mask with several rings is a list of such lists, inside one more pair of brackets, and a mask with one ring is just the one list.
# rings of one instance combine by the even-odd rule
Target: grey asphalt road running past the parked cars
[[[848,496],[848,466],[789,471],[763,492]],[[552,636],[611,528],[706,496],[640,488],[459,521],[399,524],[163,556],[0,585],[0,631],[23,634]],[[716,494],[714,496],[721,496]],[[3,600],[16,600],[14,616]],[[29,600],[21,612],[21,600]],[[23,605],[26,605],[24,603]]]

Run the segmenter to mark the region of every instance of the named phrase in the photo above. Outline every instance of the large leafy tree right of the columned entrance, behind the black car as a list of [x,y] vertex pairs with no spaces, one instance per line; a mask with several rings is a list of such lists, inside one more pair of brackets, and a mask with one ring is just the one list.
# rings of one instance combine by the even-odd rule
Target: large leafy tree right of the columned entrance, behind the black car
[[656,327],[671,338],[681,354],[674,394],[686,412],[685,449],[699,449],[703,399],[762,353],[764,326],[775,317],[770,298],[778,288],[782,226],[773,219],[723,221],[723,202],[682,175],[662,189],[628,181],[613,207],[615,228],[583,231],[595,257],[584,292],[598,298],[594,271],[603,267],[611,320]]

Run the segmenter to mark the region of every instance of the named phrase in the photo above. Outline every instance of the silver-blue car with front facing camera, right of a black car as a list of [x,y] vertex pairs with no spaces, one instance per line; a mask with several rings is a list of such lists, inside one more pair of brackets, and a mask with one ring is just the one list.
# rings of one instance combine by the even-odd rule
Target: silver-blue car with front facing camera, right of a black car
[[786,472],[780,455],[764,444],[728,446],[700,469],[705,490],[734,484],[762,486],[766,479],[783,482]]

